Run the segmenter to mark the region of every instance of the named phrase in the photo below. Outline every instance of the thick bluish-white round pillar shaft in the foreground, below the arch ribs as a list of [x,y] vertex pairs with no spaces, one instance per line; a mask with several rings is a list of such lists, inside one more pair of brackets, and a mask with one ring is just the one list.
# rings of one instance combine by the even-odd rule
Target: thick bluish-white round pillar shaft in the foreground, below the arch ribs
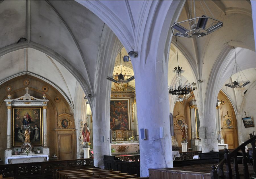
[[[167,69],[156,71],[154,65],[140,68],[135,76],[139,129],[145,128],[146,139],[140,137],[141,177],[148,168],[172,167]],[[160,127],[164,138],[160,138]]]

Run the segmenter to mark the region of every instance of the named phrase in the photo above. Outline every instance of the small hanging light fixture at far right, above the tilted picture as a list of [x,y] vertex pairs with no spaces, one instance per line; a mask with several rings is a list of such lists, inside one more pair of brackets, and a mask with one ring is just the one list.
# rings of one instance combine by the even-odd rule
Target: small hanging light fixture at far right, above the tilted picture
[[[238,64],[236,63],[236,48],[233,47],[233,49],[235,49],[235,65],[234,65],[232,74],[233,74],[234,69],[235,69],[235,67],[236,67],[236,81],[234,81],[234,82],[232,82],[232,83],[225,84],[225,86],[228,86],[228,87],[230,87],[230,88],[242,88],[242,87],[245,87],[247,84],[249,84],[250,81],[247,80],[246,76],[243,74],[243,71],[241,70],[241,68],[240,68],[240,67],[238,66]],[[243,81],[240,72],[242,72],[243,76],[245,77],[245,79],[246,79],[247,81]],[[239,73],[239,75],[238,75],[238,73]],[[231,75],[232,75],[232,74],[231,74]],[[239,76],[240,76],[241,79],[239,78]],[[240,80],[241,80],[241,81],[240,81]]]

